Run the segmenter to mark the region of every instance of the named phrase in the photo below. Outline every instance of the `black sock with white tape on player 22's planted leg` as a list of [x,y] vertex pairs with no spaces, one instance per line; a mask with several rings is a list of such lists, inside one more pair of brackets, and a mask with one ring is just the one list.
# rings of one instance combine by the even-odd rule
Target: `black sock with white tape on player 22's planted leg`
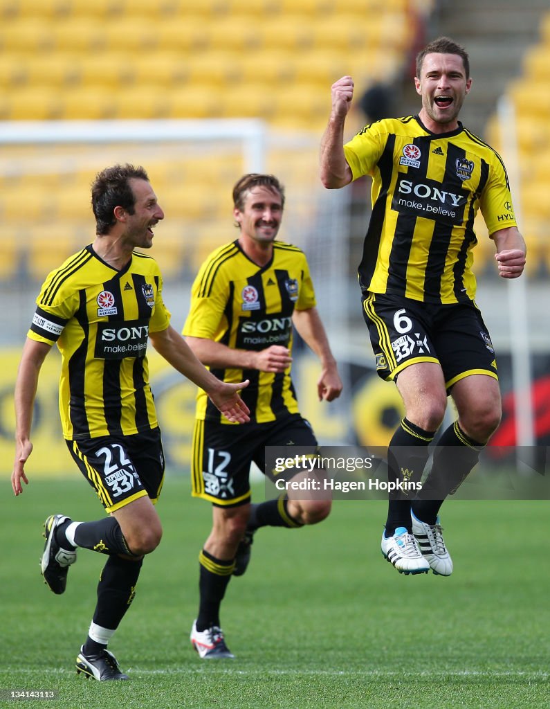
[[[118,628],[134,599],[142,563],[142,559],[134,562],[118,556],[107,559],[97,586],[97,604],[92,620],[95,625],[111,631]],[[106,643],[97,642],[88,636],[84,644],[84,653],[97,654],[105,647],[107,647]]]

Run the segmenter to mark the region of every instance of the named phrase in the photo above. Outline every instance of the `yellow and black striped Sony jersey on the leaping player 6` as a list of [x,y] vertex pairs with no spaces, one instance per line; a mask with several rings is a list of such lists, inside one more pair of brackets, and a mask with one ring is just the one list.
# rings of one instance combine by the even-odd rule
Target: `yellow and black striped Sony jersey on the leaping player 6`
[[430,133],[418,116],[366,125],[344,145],[353,179],[371,175],[361,289],[430,303],[473,300],[473,230],[515,226],[500,156],[461,124]]

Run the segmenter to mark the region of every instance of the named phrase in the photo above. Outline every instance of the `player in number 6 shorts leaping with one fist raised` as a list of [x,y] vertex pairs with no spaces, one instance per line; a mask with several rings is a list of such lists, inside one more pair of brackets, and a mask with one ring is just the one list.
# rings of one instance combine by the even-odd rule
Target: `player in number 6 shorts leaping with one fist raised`
[[366,125],[346,145],[354,82],[347,76],[332,85],[321,179],[328,189],[373,179],[359,284],[376,369],[395,381],[405,405],[388,447],[390,481],[420,481],[447,395],[458,411],[420,499],[391,496],[381,542],[398,571],[449,576],[439,508],[476,465],[501,415],[495,352],[474,301],[478,210],[501,277],[520,277],[526,250],[503,161],[458,120],[472,85],[466,51],[449,38],[434,40],[417,55],[416,74],[420,113]]

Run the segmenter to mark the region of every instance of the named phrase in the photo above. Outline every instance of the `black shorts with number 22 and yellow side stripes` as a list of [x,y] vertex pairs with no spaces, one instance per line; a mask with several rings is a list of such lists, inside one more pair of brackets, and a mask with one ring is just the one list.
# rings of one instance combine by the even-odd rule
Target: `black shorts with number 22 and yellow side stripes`
[[157,502],[164,482],[159,428],[129,436],[67,440],[67,446],[107,512],[140,497]]

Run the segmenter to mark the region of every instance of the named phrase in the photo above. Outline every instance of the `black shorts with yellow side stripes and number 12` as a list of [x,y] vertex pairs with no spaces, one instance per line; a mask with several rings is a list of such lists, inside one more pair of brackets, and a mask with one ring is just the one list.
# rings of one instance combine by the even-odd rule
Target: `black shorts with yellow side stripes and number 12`
[[265,473],[265,447],[298,445],[318,451],[310,424],[299,414],[272,423],[228,425],[196,420],[191,459],[191,493],[230,507],[250,500],[250,464]]

